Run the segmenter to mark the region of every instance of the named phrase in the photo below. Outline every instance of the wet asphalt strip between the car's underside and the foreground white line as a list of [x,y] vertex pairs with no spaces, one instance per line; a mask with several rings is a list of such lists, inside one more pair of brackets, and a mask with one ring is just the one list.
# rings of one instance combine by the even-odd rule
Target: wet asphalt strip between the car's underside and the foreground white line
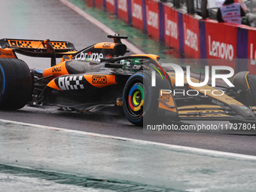
[[256,155],[256,151],[252,147],[255,144],[255,136],[246,135],[253,134],[248,131],[169,131],[161,132],[161,134],[145,134],[142,127],[133,126],[123,116],[78,114],[57,111],[56,108],[25,107],[19,111],[1,111],[0,115],[2,119],[24,123],[56,126],[70,130],[81,130],[193,148]]

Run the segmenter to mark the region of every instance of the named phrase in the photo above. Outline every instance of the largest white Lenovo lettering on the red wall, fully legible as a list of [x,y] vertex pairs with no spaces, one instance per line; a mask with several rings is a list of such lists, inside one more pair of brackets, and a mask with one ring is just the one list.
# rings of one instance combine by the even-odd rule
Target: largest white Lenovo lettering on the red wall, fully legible
[[219,41],[211,41],[211,36],[208,36],[209,40],[209,55],[215,56],[221,59],[233,60],[234,49],[232,44],[225,44]]

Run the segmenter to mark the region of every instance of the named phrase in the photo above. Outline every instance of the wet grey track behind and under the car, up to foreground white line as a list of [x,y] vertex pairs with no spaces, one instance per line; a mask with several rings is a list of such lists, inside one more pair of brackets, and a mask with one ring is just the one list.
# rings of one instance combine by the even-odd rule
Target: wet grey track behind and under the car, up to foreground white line
[[[65,40],[75,44],[78,50],[99,41],[108,41],[105,32],[56,0],[5,1],[2,2],[0,11],[6,16],[2,20],[0,38]],[[50,59],[32,59],[25,56],[20,58],[24,59],[30,68],[50,67]],[[236,130],[145,134],[142,127],[133,126],[125,117],[81,115],[56,111],[56,108],[25,107],[18,111],[0,111],[0,118],[173,145],[256,155],[253,133],[249,133],[251,135],[248,136],[248,132]]]

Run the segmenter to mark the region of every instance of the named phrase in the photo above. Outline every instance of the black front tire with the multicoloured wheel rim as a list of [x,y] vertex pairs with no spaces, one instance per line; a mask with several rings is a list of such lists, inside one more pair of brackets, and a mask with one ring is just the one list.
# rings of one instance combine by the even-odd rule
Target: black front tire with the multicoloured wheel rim
[[171,86],[158,72],[156,87],[151,87],[151,70],[136,72],[128,79],[123,89],[123,111],[131,123],[142,126],[143,122],[155,120],[160,89],[171,90]]

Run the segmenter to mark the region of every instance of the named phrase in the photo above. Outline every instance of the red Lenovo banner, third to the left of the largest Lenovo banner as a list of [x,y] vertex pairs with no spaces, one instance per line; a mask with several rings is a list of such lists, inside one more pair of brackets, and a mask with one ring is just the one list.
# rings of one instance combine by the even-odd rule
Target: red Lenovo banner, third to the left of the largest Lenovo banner
[[146,1],[148,35],[159,39],[159,5],[154,0]]

